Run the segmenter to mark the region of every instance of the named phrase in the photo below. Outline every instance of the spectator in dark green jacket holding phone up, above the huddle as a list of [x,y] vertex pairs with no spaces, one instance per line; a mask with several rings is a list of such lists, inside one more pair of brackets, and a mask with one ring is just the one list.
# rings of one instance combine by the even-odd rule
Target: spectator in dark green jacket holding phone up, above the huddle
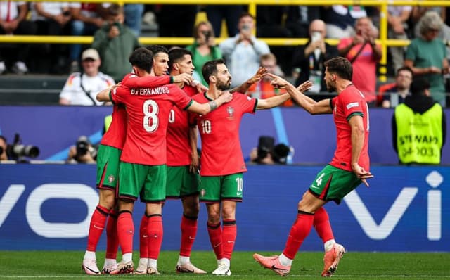
[[122,81],[124,75],[131,72],[129,55],[139,47],[136,35],[124,25],[123,7],[113,4],[108,7],[107,23],[94,34],[92,48],[100,54],[100,70],[116,81]]

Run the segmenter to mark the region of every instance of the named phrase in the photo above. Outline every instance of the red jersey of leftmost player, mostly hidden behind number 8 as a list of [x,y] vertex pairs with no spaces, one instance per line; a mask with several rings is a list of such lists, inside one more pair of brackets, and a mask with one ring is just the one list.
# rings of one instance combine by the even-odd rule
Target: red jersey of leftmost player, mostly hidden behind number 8
[[[130,79],[132,78],[132,79]],[[136,79],[134,79],[136,78]],[[151,78],[151,79],[150,79]],[[136,86],[136,87],[145,87],[144,83],[148,86],[158,87],[163,84],[169,84],[170,77],[137,77],[134,74],[128,74],[122,79],[122,84],[127,87]],[[110,128],[103,135],[101,139],[101,144],[105,146],[111,146],[114,148],[118,148],[122,150],[125,143],[126,138],[126,122],[127,122],[127,112],[125,107],[121,104],[113,106],[113,120],[111,121]]]

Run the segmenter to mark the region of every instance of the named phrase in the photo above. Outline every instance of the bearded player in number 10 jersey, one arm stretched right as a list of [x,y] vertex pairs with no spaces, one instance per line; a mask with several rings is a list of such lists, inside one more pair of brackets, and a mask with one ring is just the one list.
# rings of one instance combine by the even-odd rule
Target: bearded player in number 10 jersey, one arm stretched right
[[[223,60],[208,61],[202,68],[209,89],[193,96],[199,103],[207,103],[231,85],[231,75]],[[233,100],[207,115],[192,115],[202,139],[200,158],[200,202],[206,203],[207,229],[217,257],[214,275],[231,275],[230,260],[236,240],[236,202],[242,201],[243,172],[246,172],[239,141],[240,120],[245,113],[269,109],[282,104],[289,94],[267,99],[254,99],[241,93]],[[221,220],[223,227],[221,227]]]

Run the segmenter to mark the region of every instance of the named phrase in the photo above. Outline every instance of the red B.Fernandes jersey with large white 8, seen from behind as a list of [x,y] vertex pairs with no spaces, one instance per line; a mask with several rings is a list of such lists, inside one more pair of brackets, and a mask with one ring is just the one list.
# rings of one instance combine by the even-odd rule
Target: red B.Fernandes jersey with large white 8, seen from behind
[[188,108],[191,97],[174,84],[136,89],[121,85],[113,90],[111,99],[127,107],[127,139],[120,160],[141,165],[165,164],[170,110],[174,104]]

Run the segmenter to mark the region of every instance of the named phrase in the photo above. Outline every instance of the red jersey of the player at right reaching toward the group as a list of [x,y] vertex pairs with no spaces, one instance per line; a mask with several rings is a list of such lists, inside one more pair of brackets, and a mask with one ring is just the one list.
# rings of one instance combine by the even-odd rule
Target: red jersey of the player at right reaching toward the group
[[338,96],[333,98],[333,117],[336,125],[336,134],[338,138],[338,147],[336,148],[333,160],[330,165],[334,167],[352,170],[352,129],[349,125],[349,119],[353,115],[361,115],[364,123],[364,146],[359,155],[358,164],[365,170],[369,170],[370,163],[368,158],[368,106],[364,95],[350,85],[344,89]]

